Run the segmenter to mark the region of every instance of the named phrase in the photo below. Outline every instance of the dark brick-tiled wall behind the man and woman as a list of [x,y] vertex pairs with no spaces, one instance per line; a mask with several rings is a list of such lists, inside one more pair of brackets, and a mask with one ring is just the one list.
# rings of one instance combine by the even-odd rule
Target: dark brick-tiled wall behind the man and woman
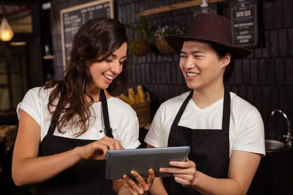
[[[51,0],[52,36],[55,78],[62,78],[62,47],[60,9],[91,0]],[[187,0],[116,0],[115,18],[122,23],[138,22],[137,11]],[[219,3],[219,10],[229,18],[228,2]],[[263,26],[261,47],[252,49],[251,56],[236,60],[235,72],[229,90],[253,104],[261,113],[267,138],[285,134],[286,123],[280,115],[270,113],[278,108],[293,119],[293,0],[263,0],[260,3]],[[147,16],[152,27],[166,24],[187,26],[192,20],[193,8]],[[159,54],[155,48],[143,57],[133,56],[131,87],[143,84],[151,94],[152,110],[167,100],[188,90],[179,69],[179,56]]]

